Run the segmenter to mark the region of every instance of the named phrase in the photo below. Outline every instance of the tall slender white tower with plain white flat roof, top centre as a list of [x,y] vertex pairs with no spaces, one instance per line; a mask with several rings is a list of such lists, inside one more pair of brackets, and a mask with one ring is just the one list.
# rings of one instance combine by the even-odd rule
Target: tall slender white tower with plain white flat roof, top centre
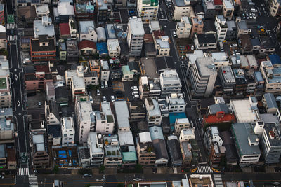
[[141,56],[141,49],[143,48],[143,37],[145,30],[143,29],[143,22],[141,18],[131,17],[129,18],[129,24],[127,29],[127,43],[129,47],[129,56],[139,57]]

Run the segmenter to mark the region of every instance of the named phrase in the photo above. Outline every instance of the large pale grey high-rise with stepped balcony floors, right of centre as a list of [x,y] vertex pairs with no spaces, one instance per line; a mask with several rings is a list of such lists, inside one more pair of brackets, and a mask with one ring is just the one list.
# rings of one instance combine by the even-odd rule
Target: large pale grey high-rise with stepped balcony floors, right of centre
[[217,71],[211,58],[197,58],[195,64],[192,64],[190,76],[192,95],[196,97],[209,97],[213,92],[216,76]]

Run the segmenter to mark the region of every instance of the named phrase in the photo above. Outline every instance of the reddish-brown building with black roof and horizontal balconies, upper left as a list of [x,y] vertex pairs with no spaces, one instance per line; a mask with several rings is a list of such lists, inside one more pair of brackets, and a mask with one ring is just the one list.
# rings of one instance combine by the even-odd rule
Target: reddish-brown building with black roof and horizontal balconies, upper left
[[30,39],[30,57],[33,64],[48,64],[55,61],[55,39],[40,35],[38,38]]

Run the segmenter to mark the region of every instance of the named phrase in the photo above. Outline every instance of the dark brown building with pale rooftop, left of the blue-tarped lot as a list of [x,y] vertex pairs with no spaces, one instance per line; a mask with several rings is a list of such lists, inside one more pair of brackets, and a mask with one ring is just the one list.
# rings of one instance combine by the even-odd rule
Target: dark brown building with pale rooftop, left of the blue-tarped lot
[[48,148],[44,134],[34,134],[30,136],[32,164],[33,167],[46,168],[50,164]]

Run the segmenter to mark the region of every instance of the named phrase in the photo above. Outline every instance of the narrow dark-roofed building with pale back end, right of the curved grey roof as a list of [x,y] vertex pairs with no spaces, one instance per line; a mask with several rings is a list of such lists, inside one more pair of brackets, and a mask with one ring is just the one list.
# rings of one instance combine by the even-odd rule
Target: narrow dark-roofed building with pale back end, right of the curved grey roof
[[178,167],[183,164],[183,158],[181,157],[181,148],[176,135],[171,135],[167,139],[167,147],[170,153],[171,166]]

